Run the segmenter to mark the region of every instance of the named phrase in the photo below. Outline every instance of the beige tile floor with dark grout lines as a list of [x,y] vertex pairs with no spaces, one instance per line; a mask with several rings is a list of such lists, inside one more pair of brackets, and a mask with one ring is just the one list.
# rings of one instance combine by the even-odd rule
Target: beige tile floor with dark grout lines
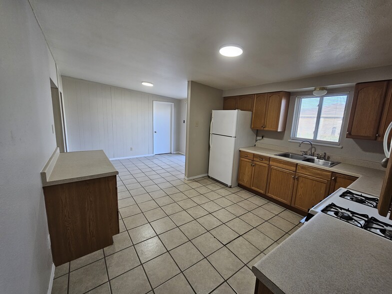
[[183,155],[113,160],[120,233],[55,269],[52,293],[252,294],[251,266],[300,215],[208,177],[185,180]]

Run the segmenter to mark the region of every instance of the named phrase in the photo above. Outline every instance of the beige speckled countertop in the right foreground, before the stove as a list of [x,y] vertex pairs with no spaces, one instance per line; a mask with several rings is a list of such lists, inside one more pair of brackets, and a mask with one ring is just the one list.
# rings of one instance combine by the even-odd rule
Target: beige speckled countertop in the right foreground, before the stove
[[317,213],[252,267],[274,293],[390,293],[392,241]]

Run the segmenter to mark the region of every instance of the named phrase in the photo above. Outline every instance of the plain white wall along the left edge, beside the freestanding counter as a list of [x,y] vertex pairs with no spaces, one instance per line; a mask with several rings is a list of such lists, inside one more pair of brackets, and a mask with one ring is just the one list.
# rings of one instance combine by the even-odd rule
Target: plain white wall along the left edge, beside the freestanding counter
[[26,0],[0,3],[0,292],[46,293],[52,258],[40,171],[53,152],[54,60]]

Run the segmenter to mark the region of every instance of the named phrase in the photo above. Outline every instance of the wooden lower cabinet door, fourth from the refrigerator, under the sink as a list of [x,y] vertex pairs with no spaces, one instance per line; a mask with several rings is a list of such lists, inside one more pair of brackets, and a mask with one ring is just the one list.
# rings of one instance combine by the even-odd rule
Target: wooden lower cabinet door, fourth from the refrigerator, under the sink
[[329,191],[329,181],[296,173],[291,206],[305,212],[321,201]]

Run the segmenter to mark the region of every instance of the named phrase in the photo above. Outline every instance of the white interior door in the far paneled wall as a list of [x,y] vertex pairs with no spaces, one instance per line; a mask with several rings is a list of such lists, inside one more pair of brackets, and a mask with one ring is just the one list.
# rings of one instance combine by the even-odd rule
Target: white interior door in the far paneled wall
[[153,153],[170,153],[173,103],[153,101]]

